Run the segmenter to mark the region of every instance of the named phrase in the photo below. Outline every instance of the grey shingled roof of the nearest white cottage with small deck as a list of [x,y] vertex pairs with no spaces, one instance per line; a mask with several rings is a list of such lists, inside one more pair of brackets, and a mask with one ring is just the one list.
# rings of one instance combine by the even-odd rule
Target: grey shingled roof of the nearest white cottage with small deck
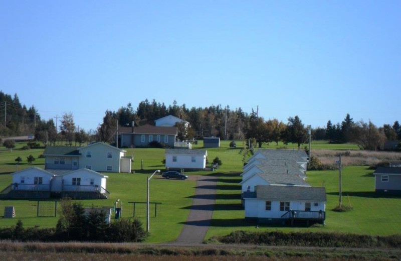
[[326,201],[326,189],[322,187],[258,185],[255,190],[257,199]]

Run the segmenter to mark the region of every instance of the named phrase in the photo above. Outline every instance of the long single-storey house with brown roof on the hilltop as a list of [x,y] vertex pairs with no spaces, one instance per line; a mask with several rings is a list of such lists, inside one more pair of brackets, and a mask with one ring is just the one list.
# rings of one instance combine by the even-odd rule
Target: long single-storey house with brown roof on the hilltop
[[120,127],[119,141],[121,147],[149,147],[149,143],[164,143],[168,148],[174,148],[177,127],[152,126],[149,124],[138,127]]

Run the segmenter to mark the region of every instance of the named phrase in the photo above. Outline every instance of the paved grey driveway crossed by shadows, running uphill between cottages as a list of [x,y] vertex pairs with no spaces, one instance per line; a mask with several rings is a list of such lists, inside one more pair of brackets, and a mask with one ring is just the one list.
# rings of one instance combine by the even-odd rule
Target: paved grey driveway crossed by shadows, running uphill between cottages
[[216,177],[198,176],[190,212],[176,243],[203,242],[215,208],[216,182]]

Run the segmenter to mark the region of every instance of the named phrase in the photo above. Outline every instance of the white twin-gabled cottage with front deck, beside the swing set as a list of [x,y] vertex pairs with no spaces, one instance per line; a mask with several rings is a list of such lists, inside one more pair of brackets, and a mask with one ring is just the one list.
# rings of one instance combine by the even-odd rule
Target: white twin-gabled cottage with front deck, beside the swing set
[[13,183],[0,192],[2,198],[105,199],[105,175],[88,169],[43,170],[32,167],[11,174]]

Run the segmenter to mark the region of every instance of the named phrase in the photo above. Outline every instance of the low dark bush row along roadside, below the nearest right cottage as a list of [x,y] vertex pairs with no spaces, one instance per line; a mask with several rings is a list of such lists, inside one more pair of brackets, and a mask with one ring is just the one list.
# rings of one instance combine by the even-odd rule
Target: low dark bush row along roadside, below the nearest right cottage
[[390,247],[401,248],[401,235],[371,236],[348,233],[235,231],[226,236],[214,237],[211,242],[226,244],[261,244],[319,247]]

